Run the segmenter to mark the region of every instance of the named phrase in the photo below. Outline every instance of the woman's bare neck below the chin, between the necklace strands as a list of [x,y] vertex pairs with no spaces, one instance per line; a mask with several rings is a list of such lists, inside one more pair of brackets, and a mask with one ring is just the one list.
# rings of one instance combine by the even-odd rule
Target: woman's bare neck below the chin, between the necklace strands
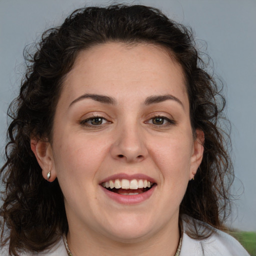
[[[77,231],[78,230],[78,231]],[[159,229],[149,237],[140,237],[128,241],[117,241],[95,233],[93,230],[81,232],[81,229],[69,229],[67,243],[73,256],[84,255],[140,255],[173,256],[179,242],[178,224]]]

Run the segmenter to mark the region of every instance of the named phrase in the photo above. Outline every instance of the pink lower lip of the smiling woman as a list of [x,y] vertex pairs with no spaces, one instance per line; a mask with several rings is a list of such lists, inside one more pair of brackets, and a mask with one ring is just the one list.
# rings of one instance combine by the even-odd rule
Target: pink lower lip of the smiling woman
[[101,185],[99,185],[99,187],[110,199],[112,199],[120,204],[131,205],[131,204],[141,203],[141,202],[145,201],[146,199],[148,199],[152,195],[152,193],[156,187],[156,184],[154,184],[149,190],[147,190],[143,193],[130,194],[130,195],[118,194],[118,193],[109,191]]

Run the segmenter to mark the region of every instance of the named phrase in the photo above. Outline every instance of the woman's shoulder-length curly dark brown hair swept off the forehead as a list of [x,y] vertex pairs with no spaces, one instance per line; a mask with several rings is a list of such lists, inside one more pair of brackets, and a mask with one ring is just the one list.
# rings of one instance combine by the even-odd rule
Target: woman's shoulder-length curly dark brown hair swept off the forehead
[[[207,72],[191,29],[152,7],[85,7],[72,12],[61,26],[45,31],[35,53],[26,54],[27,70],[20,93],[8,109],[12,121],[5,147],[6,162],[1,168],[5,191],[0,215],[1,245],[9,242],[9,254],[41,251],[68,230],[58,181],[49,183],[43,179],[30,138],[51,141],[63,78],[81,50],[108,41],[161,45],[181,65],[191,126],[194,134],[196,129],[204,132],[204,153],[194,180],[188,183],[180,214],[223,227],[233,179],[227,150],[229,136],[219,127],[225,100],[220,95],[222,83],[219,86]],[[194,236],[200,238],[199,234]]]

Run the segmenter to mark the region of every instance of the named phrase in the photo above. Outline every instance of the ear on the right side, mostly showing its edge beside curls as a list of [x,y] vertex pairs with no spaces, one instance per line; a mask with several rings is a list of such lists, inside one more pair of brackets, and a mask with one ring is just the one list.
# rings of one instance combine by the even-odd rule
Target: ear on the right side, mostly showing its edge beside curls
[[204,133],[200,129],[196,129],[196,139],[193,144],[193,151],[190,161],[190,172],[189,179],[192,179],[202,161],[203,155],[203,143],[204,143]]

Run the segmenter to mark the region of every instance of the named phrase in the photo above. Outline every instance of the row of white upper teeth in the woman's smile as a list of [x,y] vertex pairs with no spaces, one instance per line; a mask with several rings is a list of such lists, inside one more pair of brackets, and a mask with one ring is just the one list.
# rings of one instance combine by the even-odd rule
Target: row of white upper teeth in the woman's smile
[[103,187],[110,188],[123,188],[123,189],[137,189],[150,187],[152,183],[146,179],[114,179],[101,183]]

